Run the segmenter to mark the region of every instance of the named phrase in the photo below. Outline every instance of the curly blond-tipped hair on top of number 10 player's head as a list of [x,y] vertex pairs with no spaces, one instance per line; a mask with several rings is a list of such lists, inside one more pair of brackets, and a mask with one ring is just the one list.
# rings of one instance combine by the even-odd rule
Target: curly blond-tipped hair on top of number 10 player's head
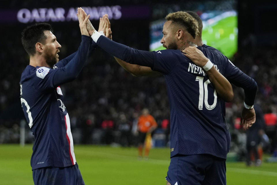
[[199,33],[197,21],[187,12],[179,11],[169,13],[165,19],[166,21],[172,21],[173,23],[177,23],[186,28],[187,32],[191,34],[193,38],[195,38]]

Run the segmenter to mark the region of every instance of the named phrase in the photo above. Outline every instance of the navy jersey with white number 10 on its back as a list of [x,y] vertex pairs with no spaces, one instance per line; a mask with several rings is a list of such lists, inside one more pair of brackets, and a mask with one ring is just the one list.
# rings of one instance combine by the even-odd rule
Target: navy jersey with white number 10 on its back
[[[97,44],[123,61],[149,66],[164,74],[170,104],[171,157],[176,154],[227,157],[230,133],[225,121],[225,102],[201,67],[179,50],[141,51],[102,36]],[[226,57],[205,47],[198,48],[220,73],[228,72],[230,62]]]

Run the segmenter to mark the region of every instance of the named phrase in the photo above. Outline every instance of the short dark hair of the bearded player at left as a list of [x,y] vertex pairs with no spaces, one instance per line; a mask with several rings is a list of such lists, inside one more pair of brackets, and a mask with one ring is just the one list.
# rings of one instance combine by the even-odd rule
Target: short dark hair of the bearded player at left
[[53,28],[48,23],[36,23],[34,25],[26,27],[21,32],[21,42],[24,49],[30,56],[35,54],[35,44],[37,42],[45,43],[46,35],[44,31],[53,32]]

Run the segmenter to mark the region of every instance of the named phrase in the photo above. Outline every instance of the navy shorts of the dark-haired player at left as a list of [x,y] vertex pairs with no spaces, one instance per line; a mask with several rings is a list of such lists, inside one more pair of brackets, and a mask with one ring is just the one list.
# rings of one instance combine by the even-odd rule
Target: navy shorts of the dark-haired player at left
[[63,168],[45,167],[33,170],[35,185],[84,185],[81,172],[76,162],[73,166]]

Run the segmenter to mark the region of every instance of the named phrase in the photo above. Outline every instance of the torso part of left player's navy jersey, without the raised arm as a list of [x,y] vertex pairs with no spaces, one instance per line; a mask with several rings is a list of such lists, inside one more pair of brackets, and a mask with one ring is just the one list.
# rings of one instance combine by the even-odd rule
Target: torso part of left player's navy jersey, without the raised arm
[[65,167],[75,163],[73,141],[72,152],[68,150],[71,146],[68,141],[72,138],[68,137],[71,136],[68,125],[70,121],[63,104],[61,89],[45,86],[47,81],[51,81],[48,78],[50,75],[47,74],[54,70],[50,70],[28,65],[20,80],[23,112],[35,136],[32,169],[46,166]]

